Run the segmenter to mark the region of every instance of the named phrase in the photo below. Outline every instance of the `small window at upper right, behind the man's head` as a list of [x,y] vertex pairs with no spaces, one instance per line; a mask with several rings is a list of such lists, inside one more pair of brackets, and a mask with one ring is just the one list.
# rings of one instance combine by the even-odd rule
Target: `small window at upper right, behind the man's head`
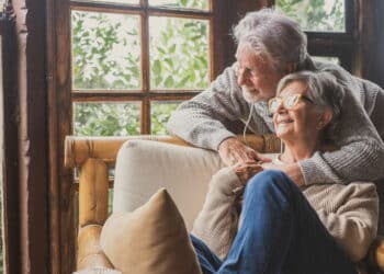
[[[275,8],[298,22],[308,37],[308,52],[352,69],[355,42],[353,5],[346,0],[275,0]],[[323,58],[323,60],[325,60]],[[318,58],[317,58],[318,60]]]

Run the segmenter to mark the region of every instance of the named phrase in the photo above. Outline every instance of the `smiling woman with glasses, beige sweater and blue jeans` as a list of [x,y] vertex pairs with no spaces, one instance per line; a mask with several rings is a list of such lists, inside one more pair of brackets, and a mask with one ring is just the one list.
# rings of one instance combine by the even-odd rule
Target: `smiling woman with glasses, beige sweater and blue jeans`
[[214,175],[191,236],[204,274],[357,273],[354,262],[377,229],[374,184],[300,189],[284,172],[268,170],[327,153],[326,137],[337,128],[343,95],[327,72],[297,72],[280,81],[269,110],[284,151],[272,163],[239,163]]

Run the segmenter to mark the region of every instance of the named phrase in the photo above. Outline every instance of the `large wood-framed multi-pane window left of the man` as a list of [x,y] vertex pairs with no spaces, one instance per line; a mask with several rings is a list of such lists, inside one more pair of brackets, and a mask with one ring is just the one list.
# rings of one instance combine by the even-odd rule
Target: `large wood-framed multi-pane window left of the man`
[[166,134],[176,106],[213,78],[212,5],[71,1],[74,134]]

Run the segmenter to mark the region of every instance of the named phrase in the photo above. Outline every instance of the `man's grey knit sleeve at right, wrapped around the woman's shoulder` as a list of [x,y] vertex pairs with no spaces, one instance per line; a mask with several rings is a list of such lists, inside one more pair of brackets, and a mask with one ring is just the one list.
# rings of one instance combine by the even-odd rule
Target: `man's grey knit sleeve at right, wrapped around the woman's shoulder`
[[[346,89],[342,101],[340,119],[330,136],[340,149],[332,152],[318,152],[298,162],[307,185],[375,181],[384,176],[383,141],[359,102],[360,90],[351,90],[359,87],[353,84],[352,79],[349,82],[350,85]],[[376,98],[377,90],[363,92]],[[376,110],[373,113],[383,112],[383,107],[384,105],[375,105]]]

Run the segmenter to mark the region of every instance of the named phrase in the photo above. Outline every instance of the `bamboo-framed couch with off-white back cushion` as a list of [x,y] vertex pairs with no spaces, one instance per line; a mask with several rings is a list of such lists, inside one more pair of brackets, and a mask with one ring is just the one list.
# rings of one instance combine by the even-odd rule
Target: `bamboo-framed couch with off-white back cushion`
[[[280,150],[280,141],[273,135],[249,135],[244,141],[261,152]],[[172,136],[68,136],[65,165],[80,169],[77,270],[90,273],[97,267],[114,269],[100,247],[102,226],[109,216],[110,187],[114,187],[115,213],[134,210],[159,187],[166,187],[190,230],[207,182],[224,167],[216,152]],[[114,183],[109,178],[110,167],[116,169]],[[383,238],[377,237],[372,243],[360,269],[366,274],[384,272]]]

